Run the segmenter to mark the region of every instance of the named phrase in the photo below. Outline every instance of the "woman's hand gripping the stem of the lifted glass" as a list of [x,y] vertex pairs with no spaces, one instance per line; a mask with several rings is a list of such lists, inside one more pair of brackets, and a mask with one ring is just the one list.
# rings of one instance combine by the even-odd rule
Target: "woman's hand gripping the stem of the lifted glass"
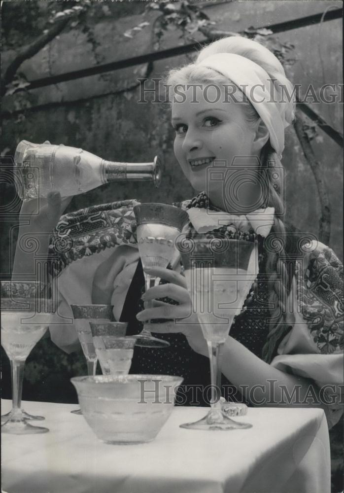
[[[185,335],[191,348],[200,354],[208,355],[206,340],[202,333],[201,325],[196,314],[192,312],[190,293],[187,289],[185,278],[175,271],[163,269],[161,267],[145,268],[147,274],[156,276],[169,284],[160,284],[151,287],[142,296],[145,302],[145,310],[138,313],[137,318],[140,321],[155,318],[172,318],[171,321],[163,323],[147,323],[145,327],[156,333],[177,333]],[[170,305],[163,301],[157,301],[156,298],[171,298],[177,301],[179,305]],[[146,308],[148,302],[153,305]]]

